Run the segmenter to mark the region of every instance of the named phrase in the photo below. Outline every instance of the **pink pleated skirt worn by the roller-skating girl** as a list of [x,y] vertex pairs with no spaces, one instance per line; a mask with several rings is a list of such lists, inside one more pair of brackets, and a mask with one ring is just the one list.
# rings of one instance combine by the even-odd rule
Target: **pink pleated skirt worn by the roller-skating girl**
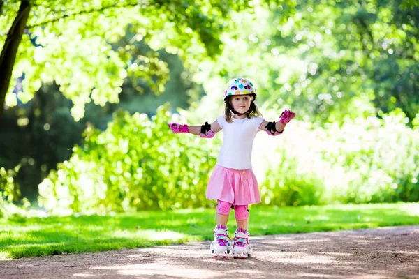
[[227,169],[216,165],[207,186],[207,199],[219,199],[233,205],[260,202],[258,181],[251,169]]

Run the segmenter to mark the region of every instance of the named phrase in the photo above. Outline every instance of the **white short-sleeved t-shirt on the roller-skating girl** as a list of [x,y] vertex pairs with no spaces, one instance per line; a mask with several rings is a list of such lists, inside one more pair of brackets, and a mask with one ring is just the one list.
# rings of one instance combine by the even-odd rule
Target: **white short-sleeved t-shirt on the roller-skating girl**
[[217,165],[229,169],[251,169],[251,150],[253,140],[258,133],[261,117],[251,119],[234,119],[228,123],[225,116],[219,116],[216,121],[223,128],[223,144],[221,145]]

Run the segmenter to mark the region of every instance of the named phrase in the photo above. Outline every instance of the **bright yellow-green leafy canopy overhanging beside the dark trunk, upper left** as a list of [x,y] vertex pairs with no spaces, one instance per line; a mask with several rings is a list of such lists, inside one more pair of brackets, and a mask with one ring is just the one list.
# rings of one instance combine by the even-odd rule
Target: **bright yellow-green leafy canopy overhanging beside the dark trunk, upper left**
[[[281,0],[265,1],[277,5]],[[292,0],[284,0],[292,6]],[[127,75],[145,80],[155,93],[163,90],[168,69],[156,50],[166,49],[196,66],[203,56],[221,51],[221,32],[228,29],[231,10],[253,8],[251,0],[98,0],[1,1],[0,116],[3,104],[17,102],[15,84],[24,75],[20,100],[27,102],[52,80],[71,99],[75,119],[94,100],[118,102]],[[15,18],[10,24],[8,19]],[[127,31],[135,33],[125,47],[114,47]],[[131,44],[144,41],[152,52],[138,53]]]

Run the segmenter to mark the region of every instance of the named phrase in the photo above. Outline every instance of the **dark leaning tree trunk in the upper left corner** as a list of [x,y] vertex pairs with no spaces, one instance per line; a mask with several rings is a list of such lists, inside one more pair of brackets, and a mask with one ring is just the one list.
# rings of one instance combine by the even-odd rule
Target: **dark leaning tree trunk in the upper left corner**
[[15,66],[17,48],[22,40],[24,28],[27,25],[29,17],[29,10],[31,5],[29,0],[20,1],[20,8],[17,12],[15,21],[8,31],[6,41],[3,45],[3,50],[0,54],[0,119],[3,114],[4,100],[6,93],[10,86],[10,79],[12,77],[13,66]]

